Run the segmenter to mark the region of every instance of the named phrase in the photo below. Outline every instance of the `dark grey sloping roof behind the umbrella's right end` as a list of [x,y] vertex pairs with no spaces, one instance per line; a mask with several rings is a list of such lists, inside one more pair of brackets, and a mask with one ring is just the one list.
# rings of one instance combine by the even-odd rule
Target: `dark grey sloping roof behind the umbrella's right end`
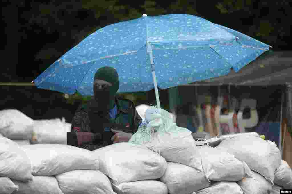
[[196,86],[292,86],[292,51],[276,51],[243,67],[239,72],[194,82]]

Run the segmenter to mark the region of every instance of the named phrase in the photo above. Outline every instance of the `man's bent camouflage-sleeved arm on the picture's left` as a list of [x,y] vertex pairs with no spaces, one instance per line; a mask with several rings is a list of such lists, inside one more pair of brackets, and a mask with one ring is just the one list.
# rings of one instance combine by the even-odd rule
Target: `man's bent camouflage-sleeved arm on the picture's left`
[[74,146],[88,149],[90,151],[103,147],[102,145],[97,144],[98,141],[101,141],[102,135],[100,133],[93,134],[91,132],[88,113],[80,107],[77,109],[72,119],[71,133],[74,133],[73,138],[76,138]]

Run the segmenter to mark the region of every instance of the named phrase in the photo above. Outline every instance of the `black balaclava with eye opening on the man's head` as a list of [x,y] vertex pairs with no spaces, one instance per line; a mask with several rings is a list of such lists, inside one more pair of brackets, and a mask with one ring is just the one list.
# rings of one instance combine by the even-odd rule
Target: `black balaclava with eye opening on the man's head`
[[101,67],[94,75],[94,80],[104,80],[112,84],[107,88],[98,88],[93,85],[95,111],[103,112],[114,108],[115,97],[119,90],[119,75],[113,67]]

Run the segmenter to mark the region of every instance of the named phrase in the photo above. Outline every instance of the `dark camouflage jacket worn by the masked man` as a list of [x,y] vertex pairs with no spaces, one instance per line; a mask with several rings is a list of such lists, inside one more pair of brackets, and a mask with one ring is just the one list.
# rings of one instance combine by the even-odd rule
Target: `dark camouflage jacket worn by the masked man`
[[112,143],[110,138],[113,134],[105,133],[105,129],[134,134],[142,122],[135,104],[124,98],[116,98],[115,101],[118,110],[115,119],[110,118],[109,113],[91,116],[88,111],[91,102],[79,106],[72,120],[71,133],[67,133],[67,144],[93,151]]

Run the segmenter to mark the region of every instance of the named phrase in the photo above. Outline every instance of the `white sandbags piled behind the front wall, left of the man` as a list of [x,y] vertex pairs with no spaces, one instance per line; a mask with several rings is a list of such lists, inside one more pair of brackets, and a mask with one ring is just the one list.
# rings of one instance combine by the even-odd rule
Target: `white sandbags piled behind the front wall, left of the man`
[[38,143],[67,144],[67,132],[71,124],[63,117],[33,120],[16,109],[0,111],[0,134],[18,145]]

